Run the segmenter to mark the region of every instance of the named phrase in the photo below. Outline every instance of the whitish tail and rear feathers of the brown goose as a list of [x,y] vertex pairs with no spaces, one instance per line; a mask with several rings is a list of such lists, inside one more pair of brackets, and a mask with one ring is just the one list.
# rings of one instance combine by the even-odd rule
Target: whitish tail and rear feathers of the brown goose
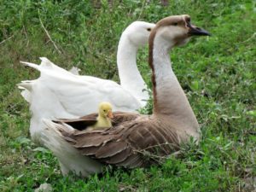
[[73,148],[61,136],[59,130],[72,131],[73,128],[66,125],[58,125],[48,119],[44,119],[47,128],[42,133],[42,140],[45,147],[49,148],[60,161],[61,172],[66,175],[68,172],[75,172],[77,175],[88,177],[90,174],[102,172],[102,164],[87,156],[79,154],[79,150]]

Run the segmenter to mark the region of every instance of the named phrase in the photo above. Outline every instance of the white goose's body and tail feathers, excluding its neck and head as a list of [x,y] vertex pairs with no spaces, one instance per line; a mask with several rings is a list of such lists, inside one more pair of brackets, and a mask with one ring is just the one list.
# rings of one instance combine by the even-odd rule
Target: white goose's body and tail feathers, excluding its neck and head
[[40,77],[18,84],[21,95],[30,102],[32,111],[30,132],[35,142],[44,130],[42,119],[78,118],[97,112],[100,102],[110,102],[113,111],[135,111],[141,103],[119,84],[106,79],[79,76],[57,67],[47,58],[41,65],[22,62],[40,72]]

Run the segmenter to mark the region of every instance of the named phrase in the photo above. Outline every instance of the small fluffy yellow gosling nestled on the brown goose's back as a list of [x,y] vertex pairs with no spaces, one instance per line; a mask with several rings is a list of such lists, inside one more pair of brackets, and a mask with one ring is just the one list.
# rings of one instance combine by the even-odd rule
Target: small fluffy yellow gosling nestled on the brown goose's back
[[99,113],[96,124],[90,126],[86,130],[91,131],[109,128],[112,126],[111,119],[113,119],[112,105],[109,102],[101,102],[99,105]]

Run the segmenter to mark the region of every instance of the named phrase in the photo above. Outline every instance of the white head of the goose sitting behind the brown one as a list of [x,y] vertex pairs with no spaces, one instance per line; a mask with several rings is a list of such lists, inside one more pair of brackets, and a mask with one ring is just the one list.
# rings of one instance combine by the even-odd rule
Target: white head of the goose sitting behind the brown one
[[134,21],[130,26],[127,26],[124,34],[130,40],[131,44],[137,47],[148,43],[150,32],[154,28],[154,23],[144,21]]

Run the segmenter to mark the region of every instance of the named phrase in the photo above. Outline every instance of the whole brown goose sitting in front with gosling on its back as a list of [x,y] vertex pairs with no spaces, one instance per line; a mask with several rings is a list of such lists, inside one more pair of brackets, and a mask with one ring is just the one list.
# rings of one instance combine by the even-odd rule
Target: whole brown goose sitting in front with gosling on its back
[[98,131],[74,128],[90,125],[96,114],[81,119],[45,120],[44,142],[61,161],[62,172],[73,170],[87,176],[101,172],[102,165],[137,167],[154,160],[143,152],[166,155],[189,137],[199,140],[200,128],[188,99],[172,71],[168,52],[186,44],[191,36],[209,35],[190,24],[189,15],[160,20],[149,37],[149,66],[152,69],[154,113],[113,113],[113,127]]

